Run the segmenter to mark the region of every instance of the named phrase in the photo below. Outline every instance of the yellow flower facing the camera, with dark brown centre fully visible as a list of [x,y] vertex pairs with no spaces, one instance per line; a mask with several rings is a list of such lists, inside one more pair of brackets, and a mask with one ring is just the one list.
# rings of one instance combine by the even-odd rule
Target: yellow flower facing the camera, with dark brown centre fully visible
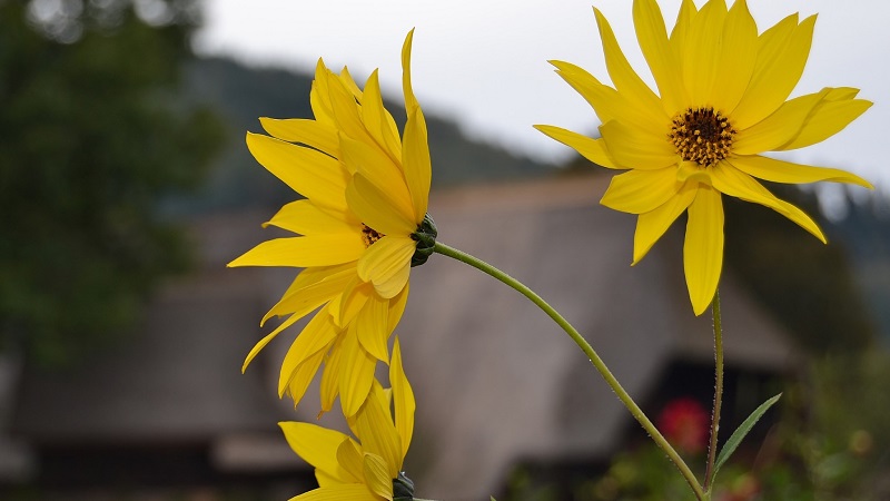
[[593,107],[602,138],[536,126],[616,175],[602,204],[639,215],[633,263],[689,212],[683,265],[696,315],[711,303],[723,262],[721,195],[764,205],[817,238],[822,232],[799,208],[773,196],[758,179],[871,185],[850,173],[797,165],[765,156],[822,141],[871,106],[858,89],[824,88],[787,100],[810,52],[815,17],[791,14],[758,33],[744,0],[731,9],[710,0],[701,10],[684,0],[668,36],[655,0],[635,0],[640,48],[659,94],[644,84],[594,9],[613,87],[577,66],[553,61],[556,72]]

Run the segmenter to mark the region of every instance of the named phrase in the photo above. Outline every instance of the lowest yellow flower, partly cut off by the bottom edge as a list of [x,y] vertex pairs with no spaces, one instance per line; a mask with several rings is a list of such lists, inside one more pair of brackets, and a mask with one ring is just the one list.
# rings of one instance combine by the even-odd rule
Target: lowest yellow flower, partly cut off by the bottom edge
[[348,420],[358,441],[316,424],[279,423],[294,452],[315,466],[319,485],[291,501],[413,499],[414,485],[402,473],[402,464],[414,433],[415,402],[402,370],[398,340],[393,347],[389,383],[392,390],[384,390],[375,380],[372,395]]

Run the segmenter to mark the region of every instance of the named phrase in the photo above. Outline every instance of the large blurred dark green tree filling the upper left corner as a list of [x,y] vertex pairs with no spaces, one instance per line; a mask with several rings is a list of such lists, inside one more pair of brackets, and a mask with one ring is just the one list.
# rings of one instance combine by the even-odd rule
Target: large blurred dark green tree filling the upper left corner
[[158,198],[221,140],[177,102],[195,1],[0,1],[0,350],[67,363],[188,263]]

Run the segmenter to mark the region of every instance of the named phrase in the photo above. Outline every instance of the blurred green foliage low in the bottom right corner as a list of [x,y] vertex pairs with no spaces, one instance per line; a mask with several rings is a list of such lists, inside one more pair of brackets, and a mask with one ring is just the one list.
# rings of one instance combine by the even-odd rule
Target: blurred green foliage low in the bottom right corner
[[[813,358],[777,404],[778,418],[758,442],[749,438],[720,470],[714,501],[879,501],[890,499],[890,354],[868,351]],[[770,411],[774,412],[773,410]],[[728,435],[730,430],[723,432]],[[694,472],[704,452],[684,453]],[[621,451],[601,474],[570,484],[513,473],[502,501],[661,501],[694,499],[685,480],[652,442]]]

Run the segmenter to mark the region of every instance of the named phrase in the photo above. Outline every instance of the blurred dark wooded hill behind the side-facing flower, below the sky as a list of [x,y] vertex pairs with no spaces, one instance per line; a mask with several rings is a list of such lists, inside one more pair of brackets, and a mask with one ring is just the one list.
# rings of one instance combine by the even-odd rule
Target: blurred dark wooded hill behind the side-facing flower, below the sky
[[[227,122],[228,141],[205,188],[197,197],[168,200],[175,213],[204,213],[247,206],[278,206],[294,193],[253,159],[245,131],[261,132],[259,117],[313,118],[309,90],[313,76],[284,69],[249,68],[231,59],[202,58],[186,70],[187,105],[208,105]],[[362,76],[355,76],[359,84]],[[399,129],[405,110],[400,97],[386,100]],[[423,106],[423,104],[422,104]],[[466,138],[458,126],[427,115],[433,184],[437,188],[467,183],[542,176],[553,166],[536,163],[503,148]]]

